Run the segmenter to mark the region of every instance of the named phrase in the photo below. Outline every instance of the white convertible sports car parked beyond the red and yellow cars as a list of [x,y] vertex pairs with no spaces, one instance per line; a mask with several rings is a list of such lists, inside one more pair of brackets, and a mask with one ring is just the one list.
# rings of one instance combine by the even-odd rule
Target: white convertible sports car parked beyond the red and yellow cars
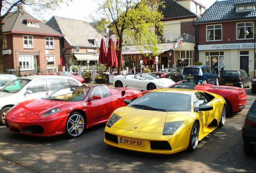
[[174,83],[169,78],[159,78],[152,73],[117,75],[113,78],[115,87],[127,87],[143,91],[164,88]]

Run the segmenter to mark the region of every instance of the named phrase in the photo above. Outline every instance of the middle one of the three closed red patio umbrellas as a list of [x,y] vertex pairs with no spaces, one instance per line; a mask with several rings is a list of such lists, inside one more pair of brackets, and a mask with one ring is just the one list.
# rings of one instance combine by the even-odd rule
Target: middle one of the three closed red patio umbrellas
[[114,46],[113,39],[111,37],[108,40],[107,62],[106,62],[106,64],[107,64],[108,67],[118,65],[118,61],[117,61],[117,58],[116,58],[116,49],[115,49],[115,46]]

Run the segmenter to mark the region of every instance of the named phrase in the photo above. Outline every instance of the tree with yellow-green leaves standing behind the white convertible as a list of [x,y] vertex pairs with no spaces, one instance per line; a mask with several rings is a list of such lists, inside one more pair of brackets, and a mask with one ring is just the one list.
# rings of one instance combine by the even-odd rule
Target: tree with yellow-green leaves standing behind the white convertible
[[[98,16],[101,28],[109,27],[120,40],[118,47],[118,74],[121,72],[122,44],[132,44],[139,50],[152,50],[152,55],[158,55],[157,34],[163,32],[163,14],[158,11],[163,6],[160,0],[103,0],[98,4]],[[99,14],[102,12],[102,15]]]

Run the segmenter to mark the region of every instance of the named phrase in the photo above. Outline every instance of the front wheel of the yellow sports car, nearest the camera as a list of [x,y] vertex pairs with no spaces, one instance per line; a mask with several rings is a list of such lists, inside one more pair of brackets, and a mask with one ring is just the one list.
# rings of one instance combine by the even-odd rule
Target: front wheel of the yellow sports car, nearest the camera
[[197,122],[194,122],[191,129],[191,133],[190,133],[188,151],[192,152],[196,150],[196,147],[198,145],[198,140],[199,140],[199,126]]

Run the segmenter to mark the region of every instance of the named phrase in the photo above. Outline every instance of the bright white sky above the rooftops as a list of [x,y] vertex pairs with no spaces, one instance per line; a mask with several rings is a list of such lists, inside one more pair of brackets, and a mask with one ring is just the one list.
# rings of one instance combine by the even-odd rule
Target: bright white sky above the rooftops
[[[206,5],[209,8],[216,0],[197,0]],[[99,0],[97,0],[99,2]],[[72,18],[77,20],[85,20],[87,22],[92,22],[89,14],[97,16],[97,3],[95,0],[72,0],[69,5],[60,4],[60,8],[55,11],[49,10],[45,13],[42,19],[49,20],[52,16],[59,16],[64,18]],[[37,16],[33,15],[35,18]],[[38,18],[41,20],[41,18]]]

